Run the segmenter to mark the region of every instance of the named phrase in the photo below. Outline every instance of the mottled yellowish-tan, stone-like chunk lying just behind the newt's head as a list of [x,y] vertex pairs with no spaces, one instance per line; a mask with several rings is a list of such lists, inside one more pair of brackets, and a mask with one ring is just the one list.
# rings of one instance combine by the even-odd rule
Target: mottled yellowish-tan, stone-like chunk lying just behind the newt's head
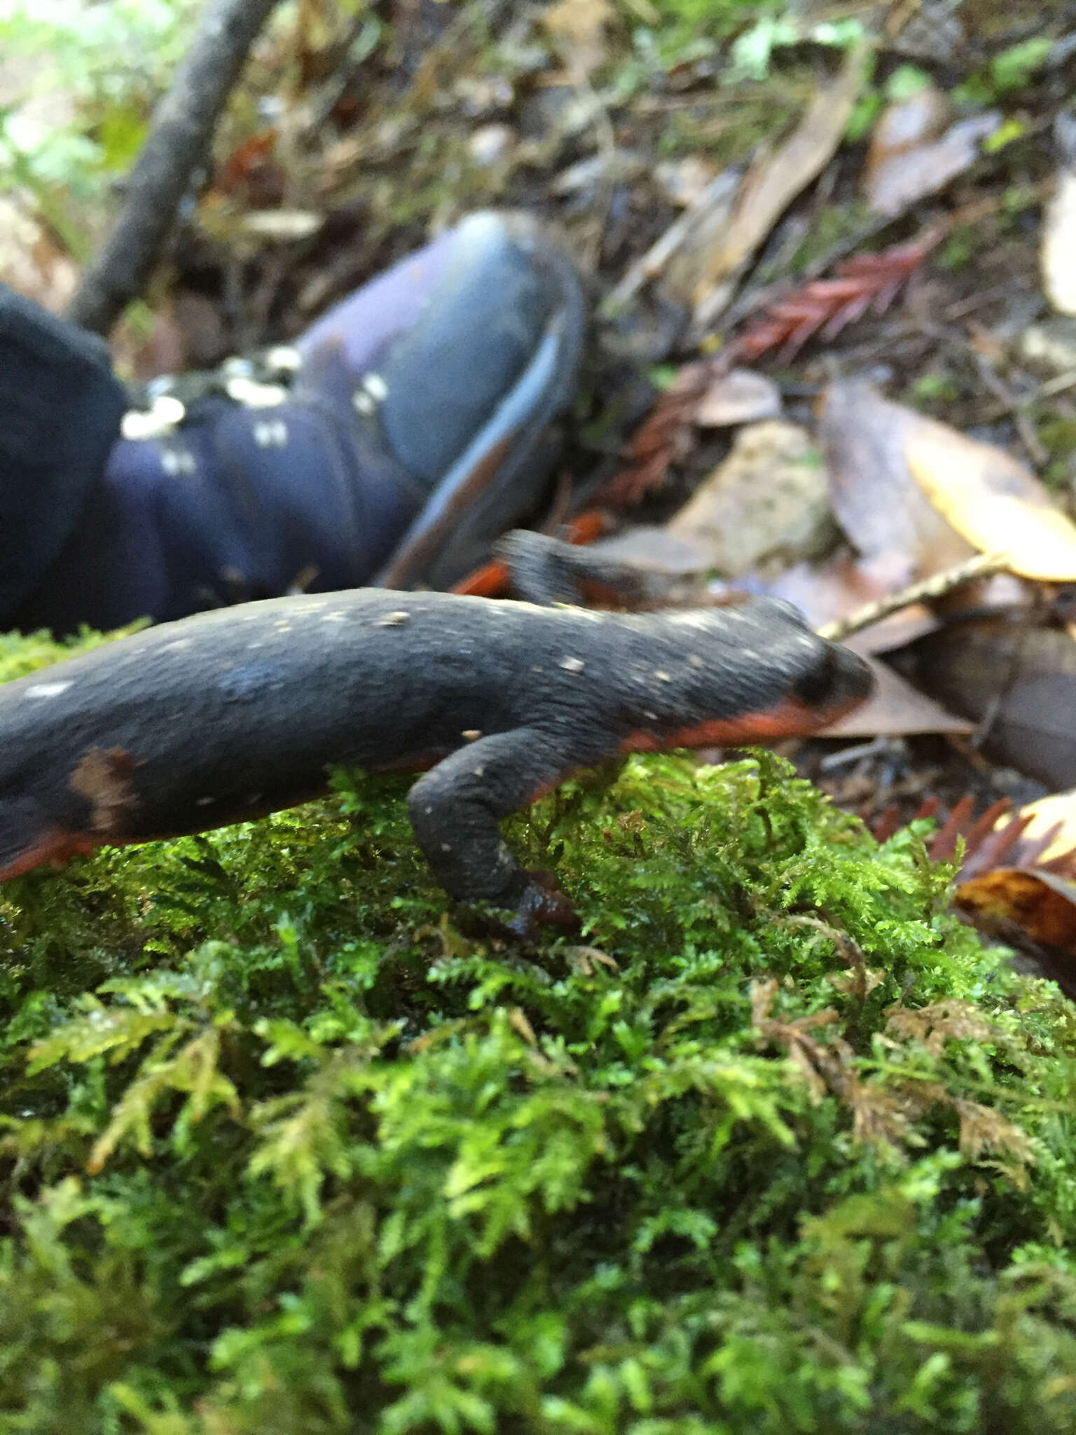
[[702,548],[706,567],[727,578],[760,564],[819,557],[835,531],[811,435],[780,419],[740,429],[725,462],[666,528]]

